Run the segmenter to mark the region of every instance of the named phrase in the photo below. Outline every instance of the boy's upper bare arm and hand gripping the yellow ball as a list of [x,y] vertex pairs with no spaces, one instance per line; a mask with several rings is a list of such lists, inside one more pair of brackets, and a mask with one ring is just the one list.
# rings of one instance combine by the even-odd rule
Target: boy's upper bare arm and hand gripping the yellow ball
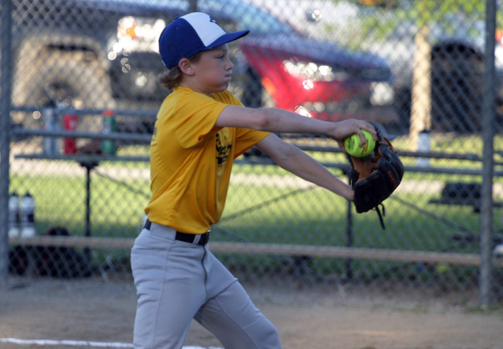
[[375,128],[362,120],[345,120],[341,122],[326,122],[303,117],[297,113],[279,108],[246,108],[228,105],[220,113],[215,124],[218,127],[241,127],[260,131],[278,133],[308,133],[343,140],[352,134],[359,134],[362,145],[367,130],[376,139]]

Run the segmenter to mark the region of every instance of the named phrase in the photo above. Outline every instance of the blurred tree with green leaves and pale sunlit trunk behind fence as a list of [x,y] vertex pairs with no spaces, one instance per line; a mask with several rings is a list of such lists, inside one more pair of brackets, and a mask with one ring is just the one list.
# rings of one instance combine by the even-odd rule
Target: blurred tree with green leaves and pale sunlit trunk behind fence
[[[336,3],[348,0],[334,0]],[[430,29],[434,23],[445,25],[444,30],[454,32],[459,22],[446,21],[454,15],[463,21],[485,17],[485,2],[473,0],[350,0],[359,5],[361,33],[385,39],[400,25],[411,24],[417,28],[414,36],[410,138],[417,145],[418,133],[431,128],[431,42]],[[498,23],[503,14],[498,13]],[[470,23],[470,22],[467,22]]]

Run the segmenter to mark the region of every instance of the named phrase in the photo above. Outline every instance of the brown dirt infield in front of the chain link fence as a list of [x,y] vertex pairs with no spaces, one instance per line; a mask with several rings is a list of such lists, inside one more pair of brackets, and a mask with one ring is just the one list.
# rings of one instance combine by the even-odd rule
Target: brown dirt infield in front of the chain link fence
[[[0,291],[0,348],[89,349],[131,343],[136,297],[128,281],[16,280]],[[439,301],[404,302],[314,295],[311,302],[250,295],[278,328],[285,349],[500,349],[503,309]],[[277,295],[276,295],[277,296]],[[307,297],[310,295],[307,294]],[[280,298],[281,299],[281,298]],[[6,338],[51,339],[24,344]],[[3,340],[2,340],[3,339]],[[59,342],[57,342],[59,341]],[[122,345],[122,344],[121,344]],[[219,347],[193,323],[187,346]],[[115,346],[119,347],[119,346]],[[123,346],[126,347],[126,346]],[[129,344],[129,347],[130,344]]]

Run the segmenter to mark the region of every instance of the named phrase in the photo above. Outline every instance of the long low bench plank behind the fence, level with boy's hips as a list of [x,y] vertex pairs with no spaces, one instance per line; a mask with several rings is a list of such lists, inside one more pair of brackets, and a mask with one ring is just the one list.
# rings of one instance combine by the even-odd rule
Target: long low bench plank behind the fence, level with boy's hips
[[[11,246],[51,246],[95,249],[130,249],[131,238],[86,238],[38,236],[33,238],[9,238]],[[264,254],[283,256],[309,256],[330,258],[351,258],[395,262],[448,263],[479,266],[480,256],[467,253],[409,251],[391,249],[368,249],[341,246],[285,245],[264,243],[211,242],[212,252],[241,254]],[[503,267],[503,258],[494,258],[493,266]]]

